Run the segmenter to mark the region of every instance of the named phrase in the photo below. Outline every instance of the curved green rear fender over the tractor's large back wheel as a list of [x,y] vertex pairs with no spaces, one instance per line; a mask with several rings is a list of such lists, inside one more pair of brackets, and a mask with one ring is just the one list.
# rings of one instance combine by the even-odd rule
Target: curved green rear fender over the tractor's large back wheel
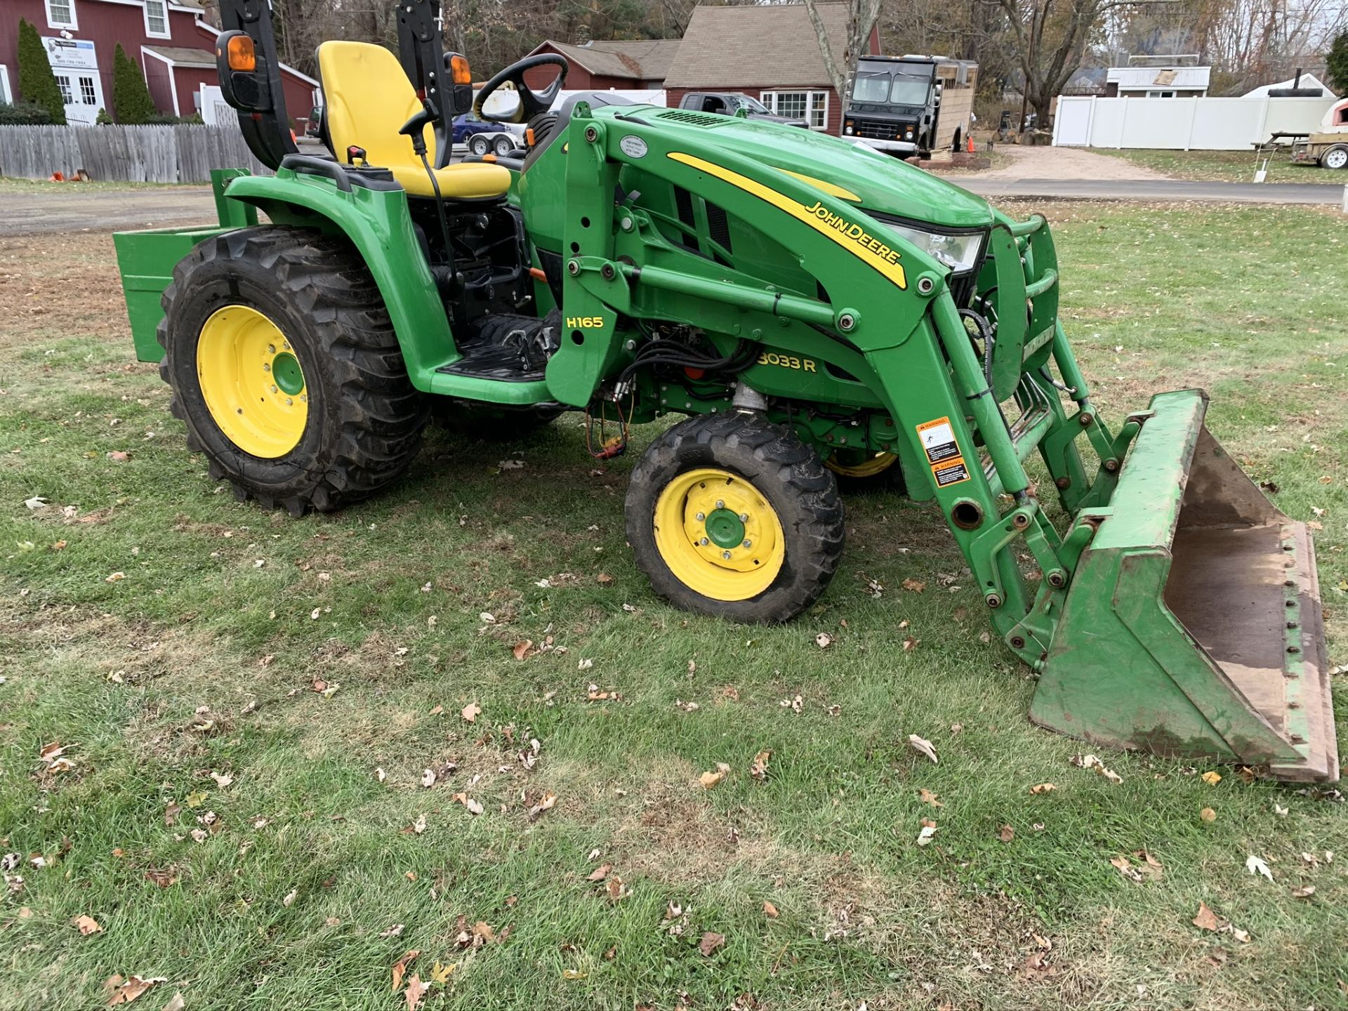
[[384,298],[418,390],[430,392],[435,369],[460,357],[403,190],[352,186],[345,193],[326,179],[280,168],[275,177],[232,181],[225,201],[255,206],[276,225],[319,228],[350,240]]

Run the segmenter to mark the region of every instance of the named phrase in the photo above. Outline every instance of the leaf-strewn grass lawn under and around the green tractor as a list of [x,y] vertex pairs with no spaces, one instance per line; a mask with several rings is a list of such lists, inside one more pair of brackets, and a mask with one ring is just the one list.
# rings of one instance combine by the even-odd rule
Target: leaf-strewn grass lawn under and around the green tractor
[[[1209,388],[1219,438],[1318,524],[1348,662],[1343,218],[1047,210],[1097,402],[1117,423]],[[1074,767],[933,510],[849,499],[837,578],[778,628],[673,611],[634,569],[621,501],[654,427],[607,464],[577,415],[435,433],[388,493],[291,520],[186,452],[106,236],[0,257],[4,1011],[101,1007],[115,973],[164,977],[154,1011],[394,1011],[410,950],[426,1007],[473,1011],[1348,1006],[1348,806]],[[1248,941],[1196,927],[1200,903]]]

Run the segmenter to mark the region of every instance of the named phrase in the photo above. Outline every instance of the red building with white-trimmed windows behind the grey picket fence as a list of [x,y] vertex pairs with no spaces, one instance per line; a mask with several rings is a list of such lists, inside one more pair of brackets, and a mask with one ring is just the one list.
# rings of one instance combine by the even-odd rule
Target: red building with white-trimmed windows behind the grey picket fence
[[[216,28],[195,0],[4,0],[0,4],[0,101],[19,101],[19,19],[36,26],[66,121],[92,125],[112,108],[112,54],[120,42],[140,65],[159,112],[191,116],[212,100]],[[282,65],[286,109],[305,119],[318,82]],[[206,88],[204,98],[204,86]]]

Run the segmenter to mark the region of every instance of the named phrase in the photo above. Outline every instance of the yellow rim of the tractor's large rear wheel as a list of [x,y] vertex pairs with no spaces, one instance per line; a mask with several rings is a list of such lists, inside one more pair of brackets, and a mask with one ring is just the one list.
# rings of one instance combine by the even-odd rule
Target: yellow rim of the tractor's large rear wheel
[[197,380],[225,437],[263,460],[286,456],[305,434],[309,390],[290,341],[248,306],[216,310],[197,337]]

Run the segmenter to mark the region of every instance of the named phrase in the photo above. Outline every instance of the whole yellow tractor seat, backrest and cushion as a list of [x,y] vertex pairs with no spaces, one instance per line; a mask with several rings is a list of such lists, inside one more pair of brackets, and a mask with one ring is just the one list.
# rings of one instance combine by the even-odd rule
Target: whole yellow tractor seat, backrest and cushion
[[[368,42],[325,42],[318,47],[318,74],[333,154],[341,159],[348,147],[361,147],[365,160],[388,168],[408,194],[434,197],[426,167],[412,152],[411,137],[398,132],[421,109],[398,57]],[[434,167],[434,131],[423,129],[422,136]],[[510,189],[510,173],[499,164],[469,162],[434,173],[446,200],[501,197]]]

